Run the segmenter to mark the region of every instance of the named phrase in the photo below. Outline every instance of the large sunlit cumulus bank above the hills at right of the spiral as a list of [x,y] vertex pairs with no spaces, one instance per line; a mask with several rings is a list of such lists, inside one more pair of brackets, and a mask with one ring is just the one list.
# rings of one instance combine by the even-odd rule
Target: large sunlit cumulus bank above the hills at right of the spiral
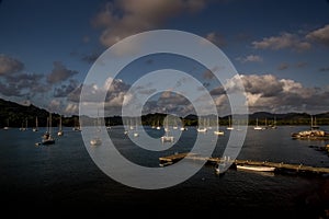
[[[246,97],[250,112],[268,111],[275,113],[286,112],[324,112],[328,111],[328,88],[305,88],[291,79],[277,79],[273,74],[242,74]],[[229,80],[226,89],[234,90],[236,78]],[[220,88],[217,88],[220,90]],[[215,96],[216,104],[224,104],[225,94]],[[223,106],[224,107],[224,106]]]

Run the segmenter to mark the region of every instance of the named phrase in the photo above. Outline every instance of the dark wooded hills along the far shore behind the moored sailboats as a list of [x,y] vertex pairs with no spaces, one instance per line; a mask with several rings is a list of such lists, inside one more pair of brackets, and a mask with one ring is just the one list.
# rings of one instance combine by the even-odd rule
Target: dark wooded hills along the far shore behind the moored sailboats
[[[4,127],[15,127],[19,128],[22,126],[22,123],[34,124],[35,117],[38,118],[38,126],[45,127],[47,123],[47,117],[49,116],[49,112],[43,108],[38,108],[34,105],[20,105],[14,102],[4,101],[0,99],[0,128]],[[75,127],[77,126],[77,122],[79,120],[78,115],[72,116],[64,116],[57,113],[52,113],[53,124],[59,124],[61,117],[61,125],[65,127]],[[163,126],[163,119],[167,114],[163,113],[155,113],[147,114],[141,116],[141,125],[144,126],[152,126],[156,122],[159,123],[160,126]],[[203,116],[204,117],[204,116]],[[213,118],[212,122],[215,122],[214,115],[209,115],[209,118]],[[273,126],[311,126],[311,119],[316,118],[317,126],[326,126],[329,125],[329,112],[310,115],[308,113],[285,113],[285,114],[273,114],[268,112],[257,112],[248,115],[248,120],[246,119],[246,115],[235,115],[235,120],[231,120],[231,115],[226,115],[219,117],[219,126],[228,126],[229,123],[232,125],[248,125],[254,126],[257,123],[263,127],[273,127]],[[94,119],[86,117],[87,120],[90,120],[93,124]],[[121,116],[109,116],[102,119],[103,125],[105,126],[117,126],[123,125],[124,119]],[[185,117],[180,117],[183,126],[197,126],[197,116],[196,115],[188,115]],[[216,123],[216,122],[215,122]],[[89,124],[89,123],[88,123]],[[86,124],[86,125],[88,125]],[[215,125],[215,124],[214,124]],[[33,126],[33,125],[32,125]]]

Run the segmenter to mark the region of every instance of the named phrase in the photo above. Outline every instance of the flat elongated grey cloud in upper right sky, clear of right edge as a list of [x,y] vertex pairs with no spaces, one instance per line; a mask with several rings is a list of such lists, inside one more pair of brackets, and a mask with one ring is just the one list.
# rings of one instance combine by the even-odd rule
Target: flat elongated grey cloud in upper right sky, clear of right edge
[[310,43],[303,41],[298,35],[291,33],[282,33],[279,36],[264,37],[262,41],[252,42],[252,46],[256,49],[293,49],[296,51],[303,51],[310,49]]

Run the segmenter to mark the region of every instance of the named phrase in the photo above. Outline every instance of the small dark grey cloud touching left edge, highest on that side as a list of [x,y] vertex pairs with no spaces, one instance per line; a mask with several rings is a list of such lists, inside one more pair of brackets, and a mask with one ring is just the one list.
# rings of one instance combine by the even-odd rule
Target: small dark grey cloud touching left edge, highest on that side
[[18,59],[0,54],[0,76],[23,70],[24,64]]

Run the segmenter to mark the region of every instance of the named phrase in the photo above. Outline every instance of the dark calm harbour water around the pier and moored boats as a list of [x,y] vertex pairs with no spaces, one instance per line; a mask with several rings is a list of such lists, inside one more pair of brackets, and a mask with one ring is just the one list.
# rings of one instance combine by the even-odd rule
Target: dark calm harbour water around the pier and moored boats
[[[238,159],[303,163],[329,168],[328,153],[317,150],[328,141],[293,140],[290,134],[308,127],[277,127],[262,131],[248,128]],[[329,127],[321,127],[328,130]],[[152,132],[150,135],[159,135]],[[53,146],[35,146],[43,130],[0,130],[0,199],[1,209],[10,214],[49,216],[68,210],[77,215],[105,212],[135,214],[144,210],[149,217],[157,210],[162,217],[172,214],[201,212],[217,217],[243,218],[329,218],[329,176],[305,176],[294,173],[259,174],[228,170],[223,176],[214,166],[204,165],[188,181],[169,188],[138,189],[123,185],[104,174],[91,160],[81,132],[65,129]],[[158,166],[158,154],[134,147],[122,127],[109,131],[118,150],[132,161]],[[195,128],[182,135],[177,147],[186,151]],[[219,137],[214,157],[220,155],[229,130]],[[213,138],[208,131],[204,138]],[[204,141],[206,147],[206,140]],[[193,162],[193,161],[191,161]],[[25,209],[25,210],[23,210]],[[137,215],[136,215],[137,216]],[[112,215],[112,217],[114,217]]]

